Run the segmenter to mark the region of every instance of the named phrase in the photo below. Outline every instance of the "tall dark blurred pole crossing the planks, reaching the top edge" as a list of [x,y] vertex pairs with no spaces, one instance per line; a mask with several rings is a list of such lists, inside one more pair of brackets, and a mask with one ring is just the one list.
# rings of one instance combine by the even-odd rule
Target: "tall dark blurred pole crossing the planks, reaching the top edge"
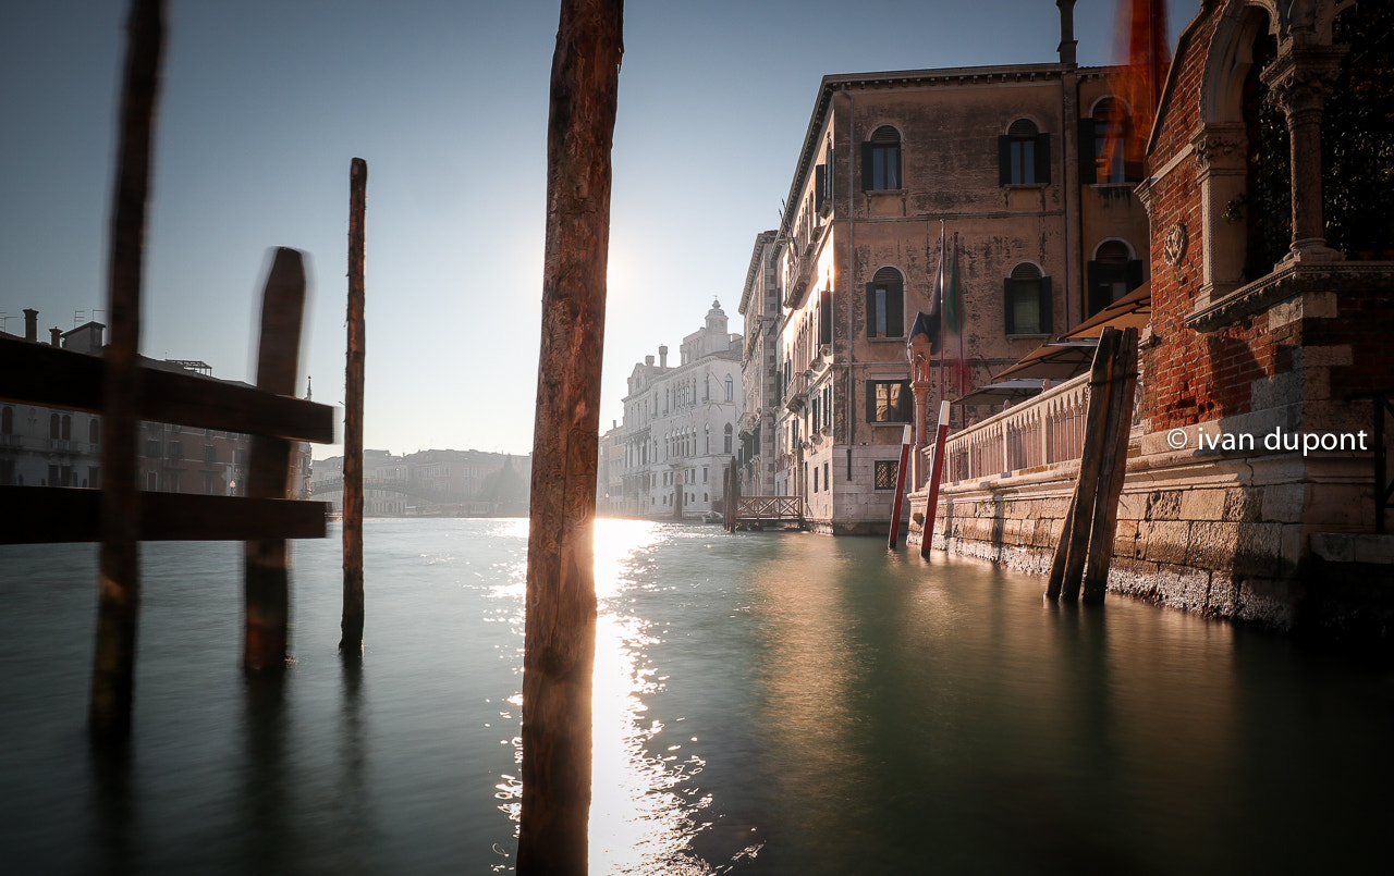
[[163,0],[135,0],[127,19],[125,74],[112,201],[102,387],[102,546],[98,552],[96,653],[88,727],[98,742],[131,731],[138,627],[141,497],[135,485],[135,409],[141,393],[141,274],[151,188],[155,106],[164,43]]

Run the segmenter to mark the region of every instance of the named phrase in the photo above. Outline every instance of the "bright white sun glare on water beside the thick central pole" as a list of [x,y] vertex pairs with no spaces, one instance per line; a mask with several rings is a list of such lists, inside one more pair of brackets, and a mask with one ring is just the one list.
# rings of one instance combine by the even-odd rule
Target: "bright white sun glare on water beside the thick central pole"
[[[665,726],[647,716],[650,698],[664,689],[650,649],[662,638],[652,623],[626,613],[626,593],[651,582],[638,574],[644,553],[664,539],[661,524],[647,521],[595,521],[595,671],[592,688],[590,870],[592,873],[700,875],[714,870],[687,854],[693,837],[705,827],[700,820],[711,797],[693,779],[705,766],[697,755],[682,753],[680,745],[650,752],[650,742]],[[519,600],[516,631],[523,641],[523,592],[526,570],[495,589],[496,596]],[[521,649],[520,649],[521,650]],[[519,666],[521,682],[521,660]],[[520,685],[521,687],[521,685]],[[517,714],[523,698],[507,701]],[[696,742],[696,740],[693,740]],[[521,740],[512,744],[514,762],[521,763]],[[500,809],[517,822],[521,783],[514,774],[500,776],[495,797]],[[516,834],[514,834],[516,836]],[[496,869],[503,869],[502,865]]]

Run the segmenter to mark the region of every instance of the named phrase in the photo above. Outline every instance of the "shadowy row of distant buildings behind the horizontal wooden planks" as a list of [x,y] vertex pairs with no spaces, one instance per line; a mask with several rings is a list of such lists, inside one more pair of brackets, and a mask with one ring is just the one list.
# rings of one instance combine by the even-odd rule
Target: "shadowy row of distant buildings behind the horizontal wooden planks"
[[[28,343],[38,340],[38,311],[25,311]],[[70,331],[52,329],[54,347],[100,355],[106,326],[86,322]],[[141,359],[144,368],[215,380],[206,362]],[[244,384],[245,386],[245,384]],[[137,486],[164,493],[241,496],[251,441],[238,432],[142,422],[137,433]],[[304,497],[309,447],[296,448],[291,492]],[[102,416],[40,405],[0,405],[0,483],[15,486],[100,486]]]

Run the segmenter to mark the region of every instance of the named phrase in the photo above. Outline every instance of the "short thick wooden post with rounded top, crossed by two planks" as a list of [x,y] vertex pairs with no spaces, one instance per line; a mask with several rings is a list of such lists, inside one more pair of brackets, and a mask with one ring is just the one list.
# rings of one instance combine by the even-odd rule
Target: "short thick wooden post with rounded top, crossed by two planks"
[[[305,312],[305,266],[294,249],[277,248],[262,292],[256,387],[294,396],[300,369],[300,330]],[[247,461],[247,494],[287,499],[290,441],[254,435]],[[282,673],[290,625],[290,553],[286,539],[245,542],[245,623],[243,670]]]

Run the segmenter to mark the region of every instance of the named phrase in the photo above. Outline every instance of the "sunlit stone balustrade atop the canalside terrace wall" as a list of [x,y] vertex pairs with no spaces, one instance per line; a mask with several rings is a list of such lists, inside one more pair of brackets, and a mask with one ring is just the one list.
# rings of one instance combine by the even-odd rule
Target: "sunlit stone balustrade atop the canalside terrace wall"
[[951,435],[944,480],[981,480],[1078,460],[1087,409],[1089,375],[1079,375]]

